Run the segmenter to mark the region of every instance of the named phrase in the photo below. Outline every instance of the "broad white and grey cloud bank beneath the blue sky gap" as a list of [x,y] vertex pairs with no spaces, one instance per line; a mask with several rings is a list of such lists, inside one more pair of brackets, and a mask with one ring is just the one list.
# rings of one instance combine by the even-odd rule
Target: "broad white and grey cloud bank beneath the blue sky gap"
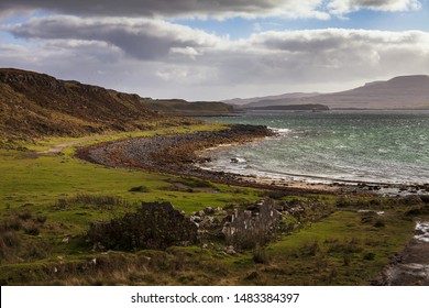
[[0,66],[25,64],[151,97],[327,91],[429,70],[429,33],[422,31],[270,31],[234,41],[167,21],[101,16],[37,18],[3,30],[26,44],[1,45]]

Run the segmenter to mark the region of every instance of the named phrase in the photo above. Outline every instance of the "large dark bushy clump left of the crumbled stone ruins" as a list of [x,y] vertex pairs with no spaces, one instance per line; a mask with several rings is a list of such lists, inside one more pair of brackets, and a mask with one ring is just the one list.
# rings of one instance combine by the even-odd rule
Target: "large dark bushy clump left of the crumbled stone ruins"
[[197,227],[168,202],[143,202],[136,212],[91,223],[88,237],[107,249],[161,249],[197,242]]

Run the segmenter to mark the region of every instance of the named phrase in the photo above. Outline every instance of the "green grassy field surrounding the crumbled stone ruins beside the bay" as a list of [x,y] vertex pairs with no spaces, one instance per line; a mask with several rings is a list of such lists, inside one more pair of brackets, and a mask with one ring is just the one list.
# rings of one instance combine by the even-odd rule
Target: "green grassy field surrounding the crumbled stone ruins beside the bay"
[[[110,134],[84,144],[216,130],[195,125]],[[366,285],[413,235],[417,201],[373,197],[277,196],[304,209],[284,215],[292,226],[267,245],[230,255],[217,240],[166,251],[95,251],[86,241],[89,224],[139,207],[168,201],[187,215],[206,207],[237,207],[267,196],[165,174],[108,168],[79,161],[70,146],[61,154],[36,154],[52,139],[0,150],[0,284],[66,285]],[[110,198],[113,201],[98,201]],[[109,199],[109,200],[110,200]],[[370,216],[359,209],[384,211]]]

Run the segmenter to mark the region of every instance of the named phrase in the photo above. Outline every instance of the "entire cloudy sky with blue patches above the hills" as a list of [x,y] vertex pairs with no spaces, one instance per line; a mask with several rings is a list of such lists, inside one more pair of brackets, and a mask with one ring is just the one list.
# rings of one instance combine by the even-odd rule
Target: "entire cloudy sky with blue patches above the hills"
[[429,74],[429,0],[1,0],[0,67],[152,98]]

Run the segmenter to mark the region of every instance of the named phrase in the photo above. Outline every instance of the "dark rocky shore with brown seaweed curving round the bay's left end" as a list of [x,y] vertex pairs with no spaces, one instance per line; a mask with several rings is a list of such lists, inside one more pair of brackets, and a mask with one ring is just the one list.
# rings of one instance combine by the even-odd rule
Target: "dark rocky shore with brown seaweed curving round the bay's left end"
[[294,193],[321,191],[321,187],[289,187],[258,182],[240,175],[201,169],[197,165],[210,160],[200,155],[219,145],[242,144],[275,133],[266,127],[234,124],[220,131],[191,134],[155,135],[105,142],[77,151],[77,156],[92,163],[180,176],[194,176],[216,183],[254,188],[282,189]]

